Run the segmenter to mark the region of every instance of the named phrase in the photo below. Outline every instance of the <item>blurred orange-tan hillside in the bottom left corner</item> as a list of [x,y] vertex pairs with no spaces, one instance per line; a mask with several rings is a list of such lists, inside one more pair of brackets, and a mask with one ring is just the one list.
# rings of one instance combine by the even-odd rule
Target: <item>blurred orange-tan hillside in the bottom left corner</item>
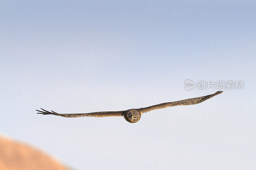
[[0,136],[1,170],[69,170],[45,153]]

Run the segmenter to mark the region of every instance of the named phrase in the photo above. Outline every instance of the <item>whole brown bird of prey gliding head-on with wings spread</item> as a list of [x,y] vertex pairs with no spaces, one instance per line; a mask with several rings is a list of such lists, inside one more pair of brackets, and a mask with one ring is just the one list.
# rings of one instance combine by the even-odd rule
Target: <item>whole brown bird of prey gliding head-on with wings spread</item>
[[42,109],[41,110],[36,110],[39,113],[38,114],[43,114],[43,115],[56,115],[56,116],[62,116],[62,117],[109,117],[109,116],[124,116],[124,119],[127,122],[130,123],[135,123],[140,120],[141,114],[149,112],[151,110],[156,110],[156,109],[162,109],[166,107],[172,107],[172,106],[181,106],[181,105],[195,105],[198,103],[202,103],[203,101],[212,98],[213,96],[216,96],[223,91],[218,91],[214,94],[210,94],[207,96],[202,96],[202,97],[196,97],[196,98],[191,98],[191,99],[185,99],[185,100],[179,100],[179,101],[172,101],[172,102],[166,102],[166,103],[161,103],[149,107],[141,107],[139,109],[128,109],[124,111],[107,111],[107,112],[92,112],[92,113],[74,113],[74,114],[59,114],[54,111],[49,112],[47,110]]

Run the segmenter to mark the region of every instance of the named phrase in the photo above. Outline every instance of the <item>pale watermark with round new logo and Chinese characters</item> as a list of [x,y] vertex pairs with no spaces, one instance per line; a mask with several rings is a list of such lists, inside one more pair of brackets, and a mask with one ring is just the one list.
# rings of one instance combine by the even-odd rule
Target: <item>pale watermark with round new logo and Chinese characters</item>
[[244,88],[244,80],[217,80],[217,81],[204,81],[198,80],[195,84],[192,80],[187,79],[185,81],[185,89],[192,90],[196,87],[197,90],[242,90]]

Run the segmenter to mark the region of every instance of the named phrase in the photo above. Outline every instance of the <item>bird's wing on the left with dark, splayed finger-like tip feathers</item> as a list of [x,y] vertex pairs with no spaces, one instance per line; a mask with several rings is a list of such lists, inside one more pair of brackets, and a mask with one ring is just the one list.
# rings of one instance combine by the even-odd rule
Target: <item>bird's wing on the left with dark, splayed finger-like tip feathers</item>
[[[42,108],[41,108],[42,109]],[[43,114],[43,115],[56,115],[56,116],[62,116],[62,117],[110,117],[110,116],[122,116],[122,113],[124,111],[114,111],[114,112],[92,112],[92,113],[70,113],[70,114],[59,114],[54,111],[49,112],[47,110],[42,109],[36,110],[39,113],[37,114]]]

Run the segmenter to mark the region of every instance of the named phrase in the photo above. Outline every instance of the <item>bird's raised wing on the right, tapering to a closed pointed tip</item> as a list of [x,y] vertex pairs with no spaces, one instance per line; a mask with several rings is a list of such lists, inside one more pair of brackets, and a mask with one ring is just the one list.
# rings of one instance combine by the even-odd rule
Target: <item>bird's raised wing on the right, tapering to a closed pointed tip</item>
[[162,109],[162,108],[172,107],[172,106],[195,105],[195,104],[201,103],[201,102],[203,102],[207,99],[210,99],[213,96],[216,96],[216,95],[218,95],[222,92],[223,91],[218,91],[214,94],[210,94],[210,95],[207,95],[207,96],[196,97],[196,98],[185,99],[185,100],[179,100],[179,101],[173,101],[173,102],[167,102],[167,103],[161,103],[161,104],[157,104],[157,105],[154,105],[154,106],[141,108],[141,110],[142,110],[142,113],[146,113],[146,112],[149,112],[151,110]]

